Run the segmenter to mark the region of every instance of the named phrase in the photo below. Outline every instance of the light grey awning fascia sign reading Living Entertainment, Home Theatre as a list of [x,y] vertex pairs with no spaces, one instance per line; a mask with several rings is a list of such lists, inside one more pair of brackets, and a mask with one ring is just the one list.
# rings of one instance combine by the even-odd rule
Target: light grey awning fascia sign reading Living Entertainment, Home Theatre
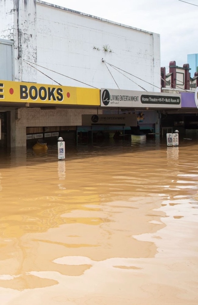
[[181,94],[102,88],[101,106],[181,108]]

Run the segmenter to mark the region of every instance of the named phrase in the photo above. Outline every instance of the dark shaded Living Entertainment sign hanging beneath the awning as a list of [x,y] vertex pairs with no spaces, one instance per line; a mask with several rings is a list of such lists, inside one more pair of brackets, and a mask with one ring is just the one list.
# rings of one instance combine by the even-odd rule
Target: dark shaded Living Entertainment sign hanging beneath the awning
[[137,126],[136,114],[82,114],[82,126]]

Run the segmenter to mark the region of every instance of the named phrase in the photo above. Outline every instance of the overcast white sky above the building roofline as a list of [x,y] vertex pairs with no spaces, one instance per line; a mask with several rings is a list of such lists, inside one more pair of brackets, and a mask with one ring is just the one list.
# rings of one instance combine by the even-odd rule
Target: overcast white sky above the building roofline
[[[43,0],[142,30],[160,34],[161,66],[187,63],[198,53],[198,0]],[[197,6],[196,6],[197,5]]]

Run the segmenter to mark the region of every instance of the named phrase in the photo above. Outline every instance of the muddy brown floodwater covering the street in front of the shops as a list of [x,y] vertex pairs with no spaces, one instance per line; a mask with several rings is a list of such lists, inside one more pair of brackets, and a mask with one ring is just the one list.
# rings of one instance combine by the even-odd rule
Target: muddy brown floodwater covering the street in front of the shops
[[197,305],[198,141],[0,155],[1,305]]

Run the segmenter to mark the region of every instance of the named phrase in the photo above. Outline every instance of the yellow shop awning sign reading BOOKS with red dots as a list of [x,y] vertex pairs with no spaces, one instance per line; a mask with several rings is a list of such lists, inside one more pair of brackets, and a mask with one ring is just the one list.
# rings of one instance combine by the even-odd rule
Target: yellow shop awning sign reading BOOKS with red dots
[[[83,94],[85,92],[87,94]],[[0,102],[100,105],[100,91],[89,88],[0,81]]]

